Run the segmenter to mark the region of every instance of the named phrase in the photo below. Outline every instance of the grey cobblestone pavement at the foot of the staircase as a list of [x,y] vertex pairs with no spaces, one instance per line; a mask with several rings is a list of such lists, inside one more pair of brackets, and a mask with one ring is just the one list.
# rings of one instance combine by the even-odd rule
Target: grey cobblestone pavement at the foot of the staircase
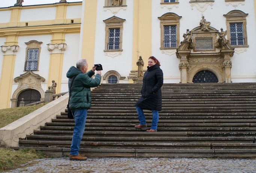
[[256,173],[256,159],[47,158],[8,173]]

